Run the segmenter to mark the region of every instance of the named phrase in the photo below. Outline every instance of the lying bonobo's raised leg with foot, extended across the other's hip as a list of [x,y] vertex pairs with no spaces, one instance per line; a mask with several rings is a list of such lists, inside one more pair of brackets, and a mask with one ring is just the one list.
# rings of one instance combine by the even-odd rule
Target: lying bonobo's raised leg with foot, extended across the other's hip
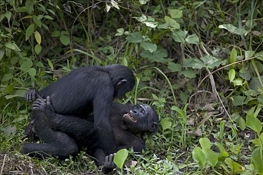
[[45,113],[44,119],[50,128],[63,131],[73,138],[84,139],[94,132],[93,122],[91,121],[76,116],[55,113],[49,96],[46,97],[46,100],[38,97],[32,106],[34,110]]

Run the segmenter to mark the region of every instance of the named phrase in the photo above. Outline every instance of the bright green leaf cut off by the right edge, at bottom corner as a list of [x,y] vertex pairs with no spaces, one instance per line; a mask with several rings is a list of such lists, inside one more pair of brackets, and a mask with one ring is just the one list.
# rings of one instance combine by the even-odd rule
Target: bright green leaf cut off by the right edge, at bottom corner
[[251,153],[251,163],[256,173],[263,174],[263,159],[260,157],[260,147],[255,148]]

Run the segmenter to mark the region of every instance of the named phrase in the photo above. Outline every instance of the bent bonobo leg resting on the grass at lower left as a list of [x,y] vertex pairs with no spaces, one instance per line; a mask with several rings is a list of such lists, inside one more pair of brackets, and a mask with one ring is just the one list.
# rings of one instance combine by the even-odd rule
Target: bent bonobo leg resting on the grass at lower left
[[76,155],[78,152],[77,144],[74,139],[61,131],[53,130],[43,119],[40,112],[33,111],[35,121],[32,130],[45,143],[25,143],[20,147],[21,153],[29,153],[29,156],[45,158],[47,156],[57,156],[66,158],[68,155]]

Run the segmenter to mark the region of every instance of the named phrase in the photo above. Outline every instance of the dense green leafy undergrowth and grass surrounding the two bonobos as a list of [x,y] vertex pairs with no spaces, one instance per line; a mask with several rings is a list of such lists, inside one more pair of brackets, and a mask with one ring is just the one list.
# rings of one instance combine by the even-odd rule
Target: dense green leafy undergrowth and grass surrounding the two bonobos
[[[123,103],[152,105],[160,130],[128,174],[263,174],[261,0],[1,0],[1,173],[100,173],[81,151],[65,160],[19,153],[42,88],[85,65],[128,65]],[[114,173],[120,171],[117,168]]]

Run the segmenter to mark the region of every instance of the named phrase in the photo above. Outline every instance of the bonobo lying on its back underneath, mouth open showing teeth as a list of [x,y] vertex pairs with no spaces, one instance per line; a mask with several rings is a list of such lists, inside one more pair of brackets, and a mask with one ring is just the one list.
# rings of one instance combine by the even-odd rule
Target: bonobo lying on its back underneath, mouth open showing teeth
[[[49,96],[46,100],[38,97],[32,107],[35,118],[28,128],[44,143],[25,143],[20,148],[21,153],[40,158],[50,155],[65,158],[69,154],[76,155],[80,148],[86,147],[88,154],[96,158],[97,165],[104,165],[105,169],[113,168],[113,154],[108,155],[103,145],[99,144],[92,114],[84,118],[57,114]],[[133,147],[134,151],[140,152],[144,148],[142,134],[155,133],[158,129],[157,113],[145,104],[112,102],[109,114],[117,150]]]

